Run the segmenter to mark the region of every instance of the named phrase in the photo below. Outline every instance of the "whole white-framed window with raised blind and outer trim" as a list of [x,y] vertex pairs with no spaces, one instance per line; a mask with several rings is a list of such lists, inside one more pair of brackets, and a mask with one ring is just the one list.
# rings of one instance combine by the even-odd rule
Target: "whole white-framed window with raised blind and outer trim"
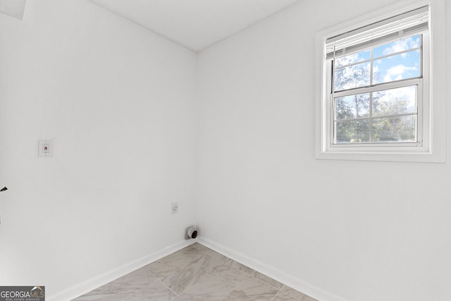
[[443,161],[443,101],[431,73],[435,11],[417,2],[317,34],[317,158]]

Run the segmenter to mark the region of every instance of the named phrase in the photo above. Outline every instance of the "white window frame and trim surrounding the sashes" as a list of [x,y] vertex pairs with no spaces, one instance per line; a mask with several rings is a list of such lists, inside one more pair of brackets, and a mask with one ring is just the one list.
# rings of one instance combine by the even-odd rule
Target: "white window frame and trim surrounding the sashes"
[[[333,124],[330,107],[330,63],[326,60],[326,39],[380,20],[429,6],[430,22],[423,48],[423,79],[418,86],[422,107],[418,109],[421,143],[332,145]],[[315,154],[317,159],[371,161],[445,161],[445,2],[444,0],[400,1],[316,34]],[[426,43],[428,42],[428,43]],[[328,69],[330,68],[330,69]],[[330,83],[329,83],[330,85]],[[421,87],[422,86],[422,87]],[[421,130],[421,133],[420,133]]]

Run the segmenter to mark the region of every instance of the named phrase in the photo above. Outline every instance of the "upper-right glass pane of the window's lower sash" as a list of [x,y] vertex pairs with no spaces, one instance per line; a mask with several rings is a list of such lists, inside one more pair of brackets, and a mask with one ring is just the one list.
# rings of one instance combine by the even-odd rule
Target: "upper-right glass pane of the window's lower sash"
[[416,113],[416,85],[373,92],[373,116]]

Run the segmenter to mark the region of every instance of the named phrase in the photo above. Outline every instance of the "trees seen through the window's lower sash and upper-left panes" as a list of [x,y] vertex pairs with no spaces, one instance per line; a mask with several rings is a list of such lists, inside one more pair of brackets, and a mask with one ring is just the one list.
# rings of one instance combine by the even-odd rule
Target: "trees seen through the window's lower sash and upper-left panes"
[[[367,86],[371,76],[374,77],[373,81],[380,81],[381,74],[375,72],[371,75],[371,62],[346,66],[354,63],[356,57],[345,56],[340,59],[339,65],[345,67],[335,69],[335,91]],[[335,97],[336,142],[414,141],[416,109],[414,104],[412,106],[412,93],[409,93],[412,88],[414,87]],[[393,116],[404,113],[412,115]]]

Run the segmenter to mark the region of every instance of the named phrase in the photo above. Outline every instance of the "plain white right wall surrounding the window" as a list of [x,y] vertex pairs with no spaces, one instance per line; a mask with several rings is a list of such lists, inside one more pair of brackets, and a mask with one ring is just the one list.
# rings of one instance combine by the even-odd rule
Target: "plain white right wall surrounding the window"
[[300,1],[199,54],[202,238],[323,300],[451,300],[450,163],[314,159],[315,32],[392,3]]

